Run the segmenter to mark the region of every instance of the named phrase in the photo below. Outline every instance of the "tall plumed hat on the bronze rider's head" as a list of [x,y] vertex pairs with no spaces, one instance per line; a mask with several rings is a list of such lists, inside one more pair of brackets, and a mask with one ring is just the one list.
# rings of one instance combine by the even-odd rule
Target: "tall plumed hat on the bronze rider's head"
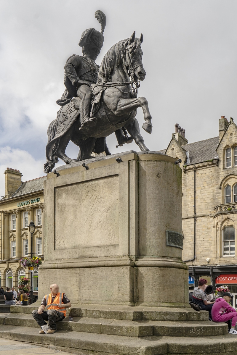
[[96,11],[95,18],[101,24],[101,31],[97,31],[95,28],[87,28],[82,32],[79,42],[80,47],[86,47],[91,41],[99,48],[102,48],[104,42],[104,28],[106,26],[106,16],[100,10]]

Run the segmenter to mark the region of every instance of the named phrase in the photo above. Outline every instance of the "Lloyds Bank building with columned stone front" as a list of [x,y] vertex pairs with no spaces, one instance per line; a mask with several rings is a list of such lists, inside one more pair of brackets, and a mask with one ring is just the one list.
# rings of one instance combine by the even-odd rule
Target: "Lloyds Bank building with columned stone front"
[[[20,259],[30,256],[31,234],[28,224],[36,225],[33,234],[33,255],[43,258],[44,196],[42,178],[22,182],[19,170],[7,168],[5,196],[0,199],[0,286],[14,286],[17,290],[21,277],[30,277],[28,269],[20,265]],[[38,292],[38,271],[33,271],[34,297]]]

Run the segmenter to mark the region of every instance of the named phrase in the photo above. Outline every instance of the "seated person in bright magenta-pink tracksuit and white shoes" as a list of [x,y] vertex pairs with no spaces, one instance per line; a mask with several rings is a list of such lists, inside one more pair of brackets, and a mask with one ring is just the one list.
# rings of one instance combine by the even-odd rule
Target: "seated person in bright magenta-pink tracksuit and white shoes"
[[237,312],[227,302],[230,302],[231,294],[224,292],[222,297],[216,299],[211,310],[212,320],[214,322],[226,322],[232,319],[230,334],[237,334],[235,325],[237,323]]

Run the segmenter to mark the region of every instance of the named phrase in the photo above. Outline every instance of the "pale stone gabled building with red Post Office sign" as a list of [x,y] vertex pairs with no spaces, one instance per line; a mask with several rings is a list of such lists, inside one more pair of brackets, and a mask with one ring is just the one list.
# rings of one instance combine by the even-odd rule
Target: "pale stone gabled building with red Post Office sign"
[[219,120],[219,136],[189,143],[175,125],[167,149],[183,170],[183,260],[189,284],[228,285],[237,308],[237,126]]

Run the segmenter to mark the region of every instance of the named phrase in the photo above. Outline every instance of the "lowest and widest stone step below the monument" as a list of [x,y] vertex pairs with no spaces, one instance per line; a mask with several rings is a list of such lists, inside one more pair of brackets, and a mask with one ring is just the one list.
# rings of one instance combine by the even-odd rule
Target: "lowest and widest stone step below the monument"
[[211,337],[124,337],[75,331],[39,334],[39,329],[0,325],[2,338],[19,340],[74,354],[91,355],[234,355],[237,336],[231,334]]

